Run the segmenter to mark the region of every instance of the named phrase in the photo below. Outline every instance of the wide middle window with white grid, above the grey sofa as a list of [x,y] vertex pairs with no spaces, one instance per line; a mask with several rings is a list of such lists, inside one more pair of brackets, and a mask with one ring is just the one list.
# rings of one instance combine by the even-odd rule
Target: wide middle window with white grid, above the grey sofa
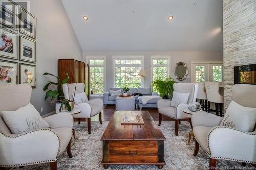
[[143,66],[143,58],[113,58],[113,65],[115,87],[137,88],[142,86],[138,73]]

